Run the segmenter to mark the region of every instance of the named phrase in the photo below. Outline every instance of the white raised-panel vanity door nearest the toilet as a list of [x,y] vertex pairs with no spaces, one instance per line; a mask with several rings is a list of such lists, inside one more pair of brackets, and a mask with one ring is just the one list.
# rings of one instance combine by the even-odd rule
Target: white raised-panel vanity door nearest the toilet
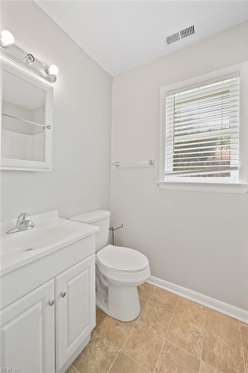
[[56,369],[95,326],[95,255],[55,277]]

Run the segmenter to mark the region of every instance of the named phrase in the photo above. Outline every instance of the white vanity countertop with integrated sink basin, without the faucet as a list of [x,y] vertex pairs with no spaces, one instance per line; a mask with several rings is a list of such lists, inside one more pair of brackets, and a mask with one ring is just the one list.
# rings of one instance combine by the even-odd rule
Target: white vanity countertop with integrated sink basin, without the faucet
[[16,220],[0,223],[0,274],[16,269],[39,257],[61,249],[99,230],[89,224],[59,218],[58,211],[29,217],[34,228],[6,234]]

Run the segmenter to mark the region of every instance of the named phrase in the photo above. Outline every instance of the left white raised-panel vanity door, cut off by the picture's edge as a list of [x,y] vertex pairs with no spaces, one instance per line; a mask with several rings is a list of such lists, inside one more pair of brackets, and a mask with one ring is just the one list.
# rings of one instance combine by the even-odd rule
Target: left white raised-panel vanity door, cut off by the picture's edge
[[54,279],[0,312],[1,368],[21,373],[55,372],[55,304],[49,305],[51,300]]

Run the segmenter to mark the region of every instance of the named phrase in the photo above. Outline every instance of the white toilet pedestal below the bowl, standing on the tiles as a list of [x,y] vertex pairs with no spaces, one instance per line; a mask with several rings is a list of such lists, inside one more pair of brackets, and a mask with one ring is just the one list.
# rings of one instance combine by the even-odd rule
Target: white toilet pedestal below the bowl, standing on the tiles
[[119,321],[132,321],[140,314],[140,300],[137,286],[121,286],[110,281],[108,298],[96,292],[96,306],[110,317]]

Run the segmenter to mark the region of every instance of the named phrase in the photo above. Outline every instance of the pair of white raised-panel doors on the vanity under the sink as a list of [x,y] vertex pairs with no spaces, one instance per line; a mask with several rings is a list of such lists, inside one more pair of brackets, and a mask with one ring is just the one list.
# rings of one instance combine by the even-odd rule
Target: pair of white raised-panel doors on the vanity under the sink
[[93,254],[0,311],[0,368],[63,373],[94,326]]

